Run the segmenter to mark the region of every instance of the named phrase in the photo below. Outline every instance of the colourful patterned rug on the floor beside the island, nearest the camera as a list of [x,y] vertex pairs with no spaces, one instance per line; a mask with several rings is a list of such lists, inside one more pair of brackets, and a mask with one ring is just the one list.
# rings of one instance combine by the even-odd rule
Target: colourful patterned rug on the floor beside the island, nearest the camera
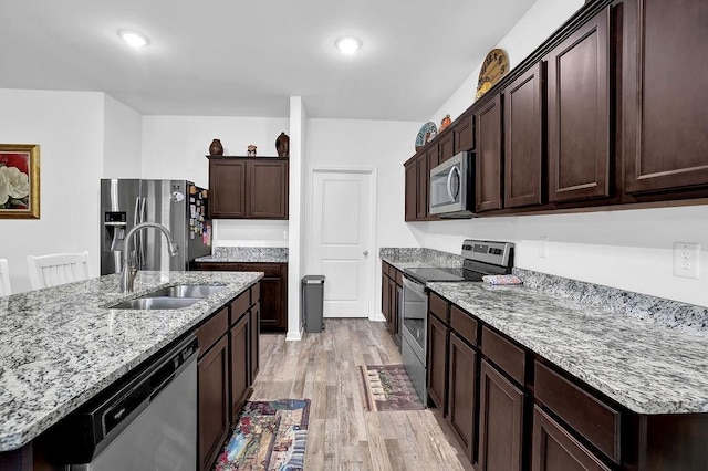
[[247,402],[215,470],[301,471],[310,399]]

